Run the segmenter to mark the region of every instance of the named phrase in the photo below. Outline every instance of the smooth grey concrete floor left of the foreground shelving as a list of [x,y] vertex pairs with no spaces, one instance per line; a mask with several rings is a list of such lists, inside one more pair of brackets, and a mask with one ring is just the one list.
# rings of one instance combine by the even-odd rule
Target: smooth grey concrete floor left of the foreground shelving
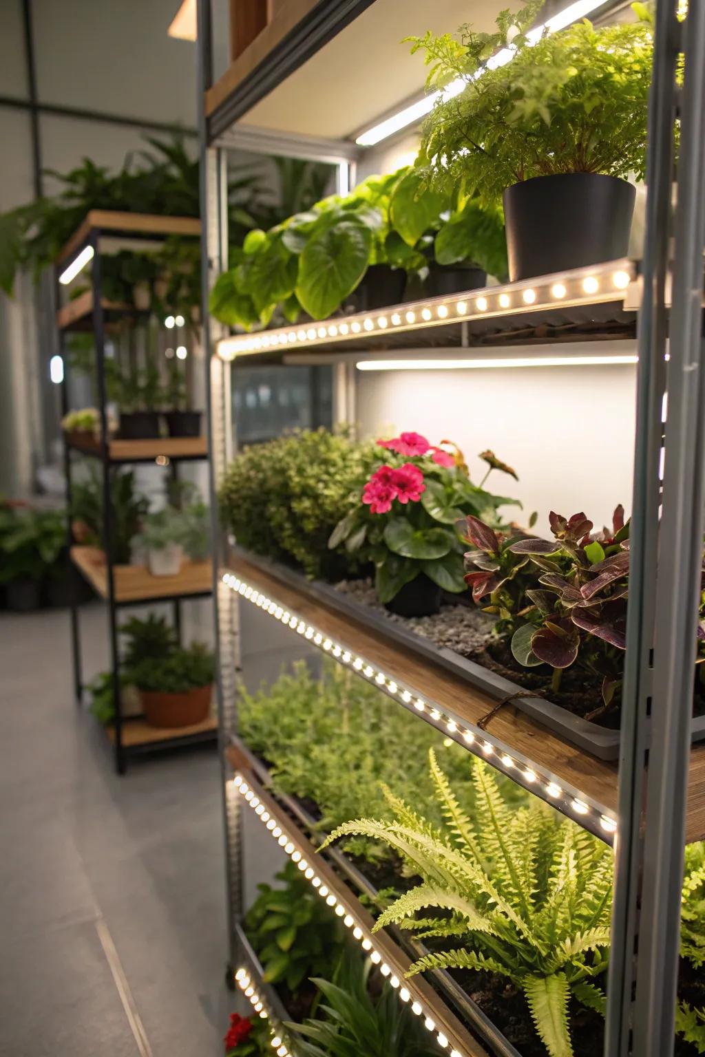
[[[95,669],[103,608],[82,627]],[[216,752],[117,778],[72,700],[63,612],[0,614],[0,1057],[221,1055],[234,997]]]

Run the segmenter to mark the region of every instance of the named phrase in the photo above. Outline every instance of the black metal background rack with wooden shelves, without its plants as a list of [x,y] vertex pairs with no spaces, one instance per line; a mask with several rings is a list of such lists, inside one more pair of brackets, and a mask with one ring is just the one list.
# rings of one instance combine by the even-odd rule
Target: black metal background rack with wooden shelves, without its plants
[[[84,223],[69,239],[59,253],[54,272],[56,280],[56,329],[58,348],[64,361],[61,386],[62,413],[69,410],[68,369],[66,366],[66,335],[76,331],[93,335],[95,369],[98,391],[99,437],[85,437],[63,433],[63,466],[67,482],[68,540],[70,548],[71,575],[71,634],[75,697],[78,704],[84,694],[80,653],[80,625],[77,605],[76,577],[82,576],[93,587],[97,595],[107,602],[110,670],[112,673],[114,722],[107,726],[109,743],[114,750],[115,767],[124,774],[130,756],[155,752],[186,744],[214,742],[217,738],[217,721],[208,717],[203,723],[178,729],[150,727],[141,718],[126,719],[123,715],[119,681],[118,611],[128,606],[168,602],[172,607],[173,624],[181,635],[182,600],[206,598],[211,593],[212,562],[184,562],[174,576],[152,576],[146,568],[115,564],[111,560],[114,511],[111,503],[111,474],[115,467],[131,464],[153,464],[168,467],[172,480],[179,477],[182,462],[208,459],[206,437],[159,438],[154,440],[112,439],[108,422],[108,397],[106,386],[106,340],[111,326],[118,320],[136,321],[146,317],[132,305],[110,301],[103,296],[101,252],[106,243],[112,252],[154,244],[170,235],[198,238],[201,222],[190,217],[153,217],[140,214],[91,210]],[[90,289],[73,300],[61,303],[58,279],[81,254],[88,251],[86,263],[90,261]],[[82,270],[79,267],[79,273]],[[103,549],[77,545],[72,528],[72,455],[96,459],[101,467],[103,484]],[[166,471],[166,470],[165,470]]]

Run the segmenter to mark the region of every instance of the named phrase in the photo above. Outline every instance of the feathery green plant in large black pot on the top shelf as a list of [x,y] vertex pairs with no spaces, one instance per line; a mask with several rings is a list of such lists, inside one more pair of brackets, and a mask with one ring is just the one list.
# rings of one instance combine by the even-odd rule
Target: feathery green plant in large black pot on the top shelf
[[[503,200],[512,280],[625,256],[627,181],[644,179],[646,164],[648,19],[531,31],[540,6],[502,12],[493,34],[407,38],[426,52],[427,87],[453,86],[426,119],[418,164],[434,190]],[[508,61],[493,62],[507,47]]]

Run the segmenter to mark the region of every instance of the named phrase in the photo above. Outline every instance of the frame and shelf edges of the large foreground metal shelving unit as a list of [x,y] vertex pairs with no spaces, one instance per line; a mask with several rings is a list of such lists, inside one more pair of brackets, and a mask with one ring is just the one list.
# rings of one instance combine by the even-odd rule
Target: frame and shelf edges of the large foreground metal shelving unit
[[[199,2],[202,137],[202,216],[207,253],[204,289],[226,266],[223,219],[225,153],[257,130],[238,119],[282,85],[317,49],[335,37],[368,3],[308,5],[299,24],[262,54],[249,71],[235,66],[212,85],[208,0]],[[315,6],[316,24],[310,38]],[[611,5],[606,5],[611,6]],[[470,361],[501,338],[522,345],[555,342],[576,335],[637,338],[637,416],[634,461],[630,608],[618,767],[567,746],[526,717],[501,713],[488,729],[478,720],[487,702],[468,692],[421,655],[402,650],[327,606],[315,591],[293,586],[261,562],[234,555],[222,537],[214,591],[220,666],[220,747],[226,837],[230,964],[238,964],[242,917],[241,811],[254,808],[284,851],[298,856],[318,890],[332,896],[365,950],[395,971],[398,951],[387,934],[368,937],[350,886],[331,860],[310,857],[301,818],[267,792],[252,759],[238,746],[237,679],[239,620],[249,601],[297,637],[373,681],[400,707],[415,711],[489,764],[552,802],[575,822],[615,848],[612,954],[608,984],[606,1057],[668,1057],[679,959],[683,848],[705,836],[705,750],[690,744],[691,680],[701,583],[705,392],[703,382],[703,246],[705,244],[705,8],[690,5],[676,20],[675,0],[658,0],[650,157],[647,173],[647,237],[643,260],[620,260],[527,282],[468,291],[390,307],[381,312],[229,335],[206,324],[209,364],[211,480],[214,487],[236,450],[230,421],[234,361],[335,365],[338,405],[349,397],[351,365],[379,358],[443,359],[459,350]],[[679,53],[685,55],[676,87]],[[350,62],[354,57],[350,56]],[[359,64],[364,68],[365,56]],[[678,206],[671,221],[673,128],[680,120]],[[354,145],[267,129],[271,149],[320,157],[339,166],[340,184],[354,174]],[[337,152],[337,153],[336,153]],[[672,226],[671,226],[672,224]],[[674,241],[671,242],[671,238]],[[674,247],[674,252],[673,252]],[[669,253],[670,249],[670,253]],[[667,341],[669,342],[667,346]],[[560,348],[570,355],[570,345]],[[527,354],[531,358],[531,352]],[[537,354],[538,355],[538,354]],[[633,361],[633,358],[632,358]],[[377,365],[378,366],[378,365]],[[668,418],[663,421],[668,393]],[[351,406],[348,400],[348,406]],[[354,405],[352,405],[354,406]],[[214,508],[215,508],[215,504]],[[218,528],[218,526],[216,526]],[[241,605],[242,599],[242,605]],[[650,747],[649,747],[650,746]],[[271,824],[272,823],[272,824]],[[615,839],[615,835],[618,839]],[[283,843],[282,843],[283,840]],[[317,884],[316,884],[317,882]],[[337,909],[337,908],[340,909]],[[348,922],[350,919],[350,922]],[[392,951],[388,944],[394,946]],[[636,957],[637,956],[637,957]],[[392,959],[392,961],[390,961]],[[403,961],[398,961],[403,969]],[[393,983],[393,981],[392,981]],[[414,986],[418,981],[414,978]],[[411,994],[411,985],[406,988]],[[402,996],[404,997],[404,996]],[[446,998],[429,987],[416,1002],[433,1022],[440,1052],[453,1057],[507,1053],[491,1025],[470,1032]],[[425,1003],[425,1004],[424,1004]],[[440,1030],[435,1025],[443,1025]],[[449,1041],[450,1040],[450,1041]],[[479,1041],[481,1040],[481,1041]],[[483,1047],[487,1046],[488,1050]]]

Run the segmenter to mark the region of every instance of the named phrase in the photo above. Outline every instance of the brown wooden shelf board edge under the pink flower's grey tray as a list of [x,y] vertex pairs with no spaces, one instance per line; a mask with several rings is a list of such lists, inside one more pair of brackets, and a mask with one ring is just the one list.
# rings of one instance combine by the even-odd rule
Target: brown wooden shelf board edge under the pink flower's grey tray
[[[334,613],[322,602],[283,583],[275,575],[264,572],[239,555],[230,556],[227,571],[234,572],[257,590],[276,599],[279,605],[309,620],[351,652],[354,651],[370,664],[376,665],[390,678],[396,678],[413,687],[430,705],[448,709],[472,726],[477,726],[478,721],[497,704],[493,698],[450,672],[414,656],[395,643],[385,642],[376,631],[372,632],[354,620]],[[557,781],[563,789],[570,786],[578,797],[582,794],[582,797],[592,801],[597,810],[616,813],[616,764],[597,760],[568,745],[546,727],[511,707],[503,708],[489,721],[487,733],[501,742],[507,753],[516,753],[525,758],[546,780]],[[491,757],[489,762],[493,762]],[[705,839],[705,744],[694,746],[690,755],[688,797],[686,840]],[[571,817],[580,821],[579,816]]]

